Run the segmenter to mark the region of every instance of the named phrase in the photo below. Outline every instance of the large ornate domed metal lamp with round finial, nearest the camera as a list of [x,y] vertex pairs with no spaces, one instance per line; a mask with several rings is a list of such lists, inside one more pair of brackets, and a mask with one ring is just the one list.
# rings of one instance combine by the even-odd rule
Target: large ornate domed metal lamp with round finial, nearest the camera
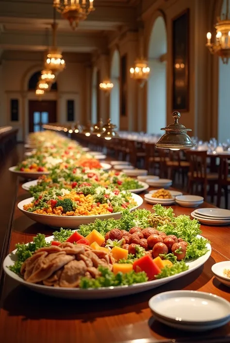
[[181,113],[178,111],[173,112],[174,123],[167,127],[161,128],[166,133],[159,139],[156,144],[157,148],[180,150],[180,149],[191,149],[196,146],[192,138],[187,135],[187,131],[192,131],[191,128],[186,128],[182,124],[178,123],[181,118]]

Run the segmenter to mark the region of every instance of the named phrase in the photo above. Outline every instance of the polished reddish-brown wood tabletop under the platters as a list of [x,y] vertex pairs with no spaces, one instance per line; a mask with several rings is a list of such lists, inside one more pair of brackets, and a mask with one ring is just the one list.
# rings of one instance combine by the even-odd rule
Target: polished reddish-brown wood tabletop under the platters
[[[33,222],[17,209],[19,201],[30,197],[21,188],[22,183],[20,180],[13,223],[9,228],[12,232],[8,252],[15,249],[17,242],[32,241],[37,233],[51,235],[53,232],[52,228]],[[203,203],[200,207],[213,206]],[[152,206],[144,200],[141,208],[151,210]],[[192,209],[179,205],[173,205],[173,208],[176,216],[190,215],[192,212]],[[151,339],[152,342],[158,342],[179,337],[194,337],[196,342],[197,336],[230,335],[230,323],[202,335],[171,329],[155,321],[148,307],[148,300],[153,295],[176,289],[211,292],[230,301],[230,288],[217,281],[211,271],[214,263],[230,260],[230,227],[201,225],[201,230],[212,245],[212,254],[204,266],[162,287],[136,295],[88,301],[52,298],[20,286],[5,276],[1,279],[0,342],[135,343],[134,340]],[[145,343],[136,341],[142,342]]]

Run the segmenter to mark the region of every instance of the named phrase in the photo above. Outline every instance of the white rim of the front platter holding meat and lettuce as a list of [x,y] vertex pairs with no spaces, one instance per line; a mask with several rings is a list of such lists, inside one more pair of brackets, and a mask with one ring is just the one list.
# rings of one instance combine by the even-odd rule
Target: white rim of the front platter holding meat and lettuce
[[[48,216],[49,217],[49,216]],[[46,241],[52,241],[53,236],[47,237]],[[36,285],[29,282],[26,282],[19,275],[15,274],[13,271],[10,271],[7,267],[12,266],[16,261],[16,256],[14,253],[10,253],[3,261],[3,269],[7,275],[19,282],[20,284],[33,289],[39,293],[43,293],[49,296],[58,297],[58,298],[69,298],[69,299],[105,299],[105,298],[115,298],[123,295],[140,293],[148,289],[154,289],[161,285],[164,285],[175,279],[179,279],[182,276],[189,274],[191,271],[195,271],[197,268],[201,267],[210,257],[212,248],[210,244],[207,244],[208,252],[197,258],[196,260],[191,260],[187,262],[189,269],[187,271],[182,271],[179,274],[165,277],[159,280],[153,280],[148,282],[143,282],[140,284],[135,284],[131,286],[117,286],[117,287],[101,287],[98,289],[79,289],[79,288],[58,288],[58,287],[49,287],[43,285]]]

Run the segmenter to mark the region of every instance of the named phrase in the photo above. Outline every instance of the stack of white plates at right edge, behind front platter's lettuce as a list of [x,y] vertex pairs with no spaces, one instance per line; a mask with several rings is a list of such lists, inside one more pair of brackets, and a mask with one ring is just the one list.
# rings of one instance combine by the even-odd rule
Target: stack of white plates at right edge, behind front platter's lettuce
[[229,225],[230,210],[222,208],[199,208],[191,213],[193,218],[208,225]]

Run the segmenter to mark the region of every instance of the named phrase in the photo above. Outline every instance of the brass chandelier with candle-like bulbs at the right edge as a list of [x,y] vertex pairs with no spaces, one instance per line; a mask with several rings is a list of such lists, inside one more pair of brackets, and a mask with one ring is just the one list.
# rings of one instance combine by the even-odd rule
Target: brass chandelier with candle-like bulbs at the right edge
[[207,44],[211,54],[217,54],[221,57],[224,64],[228,64],[230,58],[230,18],[229,18],[229,0],[226,1],[226,14],[217,18],[215,25],[215,42],[211,43],[212,34],[207,33]]

